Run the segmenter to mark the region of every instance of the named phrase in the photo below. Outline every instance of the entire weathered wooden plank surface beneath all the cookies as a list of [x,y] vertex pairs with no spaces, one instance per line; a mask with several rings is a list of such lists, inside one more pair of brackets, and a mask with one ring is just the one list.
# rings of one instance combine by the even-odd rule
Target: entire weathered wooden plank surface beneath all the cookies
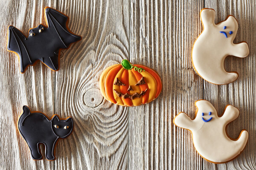
[[[0,1],[0,169],[256,169],[256,1],[246,0],[9,0]],[[69,27],[83,37],[62,50],[60,70],[38,63],[20,74],[18,58],[6,50],[9,25],[28,34],[45,24],[45,6],[70,17]],[[225,68],[238,71],[229,85],[212,85],[195,73],[193,42],[202,31],[199,13],[214,8],[216,20],[232,14],[239,22],[235,42],[247,41],[250,55],[228,57]],[[99,92],[101,72],[129,59],[156,70],[163,91],[139,107],[113,105]],[[249,140],[241,155],[212,164],[196,153],[192,136],[172,119],[180,111],[193,118],[194,102],[207,99],[219,114],[225,106],[240,110],[227,127],[236,138],[242,129]],[[55,161],[33,161],[17,130],[22,106],[72,116],[75,129],[56,147]],[[41,147],[44,154],[44,147]],[[45,158],[45,156],[44,156]]]

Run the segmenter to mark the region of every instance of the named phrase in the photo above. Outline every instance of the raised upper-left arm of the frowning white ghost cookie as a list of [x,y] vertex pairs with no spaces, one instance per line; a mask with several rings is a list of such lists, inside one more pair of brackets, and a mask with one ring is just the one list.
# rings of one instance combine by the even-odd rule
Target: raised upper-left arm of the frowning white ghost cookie
[[201,22],[206,28],[208,25],[215,24],[215,11],[213,9],[204,8],[201,10]]

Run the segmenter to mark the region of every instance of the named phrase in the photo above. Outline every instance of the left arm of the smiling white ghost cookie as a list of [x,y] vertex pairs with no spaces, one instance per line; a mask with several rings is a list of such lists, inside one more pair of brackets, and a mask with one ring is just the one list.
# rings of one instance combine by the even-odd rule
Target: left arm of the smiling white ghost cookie
[[189,116],[186,113],[179,113],[175,118],[173,119],[173,123],[181,128],[192,130],[193,127],[193,120],[189,118]]

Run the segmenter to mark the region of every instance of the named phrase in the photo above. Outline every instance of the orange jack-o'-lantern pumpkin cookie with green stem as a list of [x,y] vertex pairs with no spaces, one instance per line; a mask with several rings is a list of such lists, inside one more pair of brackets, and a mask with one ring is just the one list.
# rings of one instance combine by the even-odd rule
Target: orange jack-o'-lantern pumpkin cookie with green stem
[[158,74],[128,60],[111,65],[101,74],[99,88],[105,99],[122,106],[138,106],[156,99],[162,90]]

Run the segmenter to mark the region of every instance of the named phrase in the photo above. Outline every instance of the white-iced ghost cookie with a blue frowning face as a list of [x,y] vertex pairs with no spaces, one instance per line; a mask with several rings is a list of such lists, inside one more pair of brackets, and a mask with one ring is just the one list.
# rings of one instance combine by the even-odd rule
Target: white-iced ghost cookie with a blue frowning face
[[246,42],[233,43],[238,29],[236,18],[230,15],[216,25],[213,9],[204,8],[200,15],[204,30],[192,48],[195,71],[206,81],[217,85],[235,81],[238,74],[225,70],[225,58],[229,55],[243,58],[249,54]]

